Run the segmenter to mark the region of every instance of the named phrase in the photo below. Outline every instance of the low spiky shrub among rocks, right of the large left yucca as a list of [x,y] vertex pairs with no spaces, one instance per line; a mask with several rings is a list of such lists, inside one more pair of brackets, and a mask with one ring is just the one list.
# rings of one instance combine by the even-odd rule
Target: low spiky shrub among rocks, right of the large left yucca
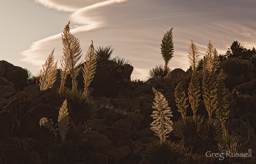
[[107,126],[112,126],[116,121],[126,118],[127,116],[130,116],[131,113],[129,113],[125,109],[115,109],[114,107],[110,107],[108,111],[105,111],[102,114],[103,120],[102,123],[106,124]]

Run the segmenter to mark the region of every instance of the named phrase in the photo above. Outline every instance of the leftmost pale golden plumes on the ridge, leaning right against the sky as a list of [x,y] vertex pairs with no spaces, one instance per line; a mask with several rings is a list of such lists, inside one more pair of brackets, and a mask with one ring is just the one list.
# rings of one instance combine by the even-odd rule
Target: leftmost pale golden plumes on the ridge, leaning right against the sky
[[51,54],[49,54],[48,58],[43,65],[43,70],[40,70],[39,76],[39,86],[40,90],[45,90],[47,88],[52,88],[57,75],[57,62],[54,63],[54,49]]

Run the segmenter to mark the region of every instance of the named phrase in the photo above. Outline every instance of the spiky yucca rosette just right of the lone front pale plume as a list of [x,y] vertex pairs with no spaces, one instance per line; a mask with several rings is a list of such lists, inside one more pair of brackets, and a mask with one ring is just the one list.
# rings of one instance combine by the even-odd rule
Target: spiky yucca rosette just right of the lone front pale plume
[[186,119],[180,118],[173,123],[172,133],[179,139],[179,144],[182,148],[188,151],[197,152],[199,148],[199,128],[202,126],[203,117],[187,116]]

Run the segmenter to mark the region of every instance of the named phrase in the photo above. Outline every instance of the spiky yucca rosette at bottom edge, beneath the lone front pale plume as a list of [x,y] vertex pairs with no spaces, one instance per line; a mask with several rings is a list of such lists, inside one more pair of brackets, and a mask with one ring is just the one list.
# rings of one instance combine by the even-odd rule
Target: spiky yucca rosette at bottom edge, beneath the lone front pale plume
[[154,141],[143,154],[151,164],[184,164],[183,149],[170,140]]

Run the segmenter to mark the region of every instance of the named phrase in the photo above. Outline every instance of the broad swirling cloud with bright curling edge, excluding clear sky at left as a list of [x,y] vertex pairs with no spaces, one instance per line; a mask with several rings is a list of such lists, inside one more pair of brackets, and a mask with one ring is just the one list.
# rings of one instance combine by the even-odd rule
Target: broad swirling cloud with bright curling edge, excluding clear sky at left
[[[246,48],[256,45],[256,20],[252,16],[256,5],[252,1],[236,1],[234,4],[232,0],[110,0],[91,1],[96,3],[89,6],[83,6],[82,0],[72,1],[73,4],[60,0],[44,2],[51,2],[55,6],[48,7],[58,10],[60,6],[66,6],[67,11],[72,12],[70,26],[79,24],[79,27],[71,33],[80,39],[83,53],[91,40],[95,47],[112,45],[115,48],[113,56],[125,57],[132,62],[133,77],[145,77],[147,70],[164,63],[160,43],[163,34],[172,27],[174,57],[169,63],[172,69],[189,68],[187,50],[191,39],[197,44],[201,57],[209,40],[219,53],[224,54],[235,40]],[[24,60],[39,65],[54,47],[55,58],[61,59],[60,38],[57,34],[34,42],[30,49],[23,51]]]

